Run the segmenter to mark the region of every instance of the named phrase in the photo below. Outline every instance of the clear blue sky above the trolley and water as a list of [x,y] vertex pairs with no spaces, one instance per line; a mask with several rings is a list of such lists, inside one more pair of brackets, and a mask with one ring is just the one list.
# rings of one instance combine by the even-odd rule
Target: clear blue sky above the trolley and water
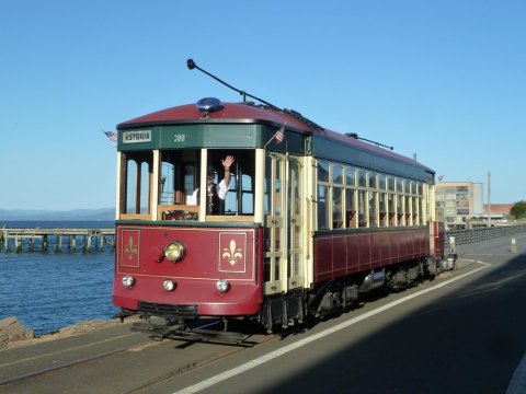
[[526,200],[526,2],[0,0],[0,209],[115,206],[102,130],[238,93]]

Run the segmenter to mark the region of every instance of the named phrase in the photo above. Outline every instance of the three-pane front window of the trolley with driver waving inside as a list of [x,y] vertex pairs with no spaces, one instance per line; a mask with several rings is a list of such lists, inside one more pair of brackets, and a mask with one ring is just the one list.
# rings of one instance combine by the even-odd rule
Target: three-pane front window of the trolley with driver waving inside
[[119,172],[121,219],[206,220],[254,215],[254,150],[122,152]]

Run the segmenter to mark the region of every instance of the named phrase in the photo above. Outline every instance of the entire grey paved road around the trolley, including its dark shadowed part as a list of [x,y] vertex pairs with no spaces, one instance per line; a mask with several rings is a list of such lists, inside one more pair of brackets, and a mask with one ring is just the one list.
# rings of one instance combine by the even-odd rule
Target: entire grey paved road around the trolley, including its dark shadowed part
[[[128,327],[0,352],[0,393],[505,393],[526,351],[526,234],[459,247],[459,269],[254,348]],[[129,347],[133,348],[129,348]],[[127,349],[118,351],[118,349]],[[93,355],[115,351],[90,361]]]

